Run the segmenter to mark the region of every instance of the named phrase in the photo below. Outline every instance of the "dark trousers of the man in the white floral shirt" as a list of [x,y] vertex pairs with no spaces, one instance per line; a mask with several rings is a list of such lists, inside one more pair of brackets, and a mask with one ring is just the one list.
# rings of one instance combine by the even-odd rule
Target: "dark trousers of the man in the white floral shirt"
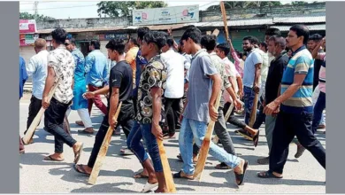
[[51,98],[50,106],[44,112],[44,126],[47,131],[55,137],[55,152],[64,152],[64,143],[72,147],[77,141],[64,129],[65,113],[68,104],[60,103],[57,99]]

